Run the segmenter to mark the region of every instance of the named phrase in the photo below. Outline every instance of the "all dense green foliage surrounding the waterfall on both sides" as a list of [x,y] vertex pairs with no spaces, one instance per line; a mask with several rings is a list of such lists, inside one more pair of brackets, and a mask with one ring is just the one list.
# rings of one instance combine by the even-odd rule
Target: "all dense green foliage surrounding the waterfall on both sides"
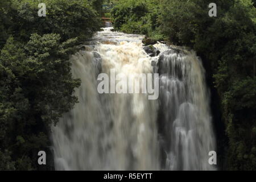
[[221,168],[255,170],[255,0],[216,0],[217,17],[209,17],[208,0],[45,0],[46,17],[38,16],[40,1],[1,0],[0,170],[40,169],[49,127],[77,102],[69,55],[99,30],[102,2],[116,5],[116,30],[197,51],[228,138],[218,143]]

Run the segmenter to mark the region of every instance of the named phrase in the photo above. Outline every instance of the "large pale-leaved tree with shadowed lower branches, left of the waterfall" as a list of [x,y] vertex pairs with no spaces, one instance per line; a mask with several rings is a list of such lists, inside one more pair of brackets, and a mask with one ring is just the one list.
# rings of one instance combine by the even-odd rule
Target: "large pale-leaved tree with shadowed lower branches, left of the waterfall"
[[0,55],[0,144],[11,151],[16,169],[35,169],[39,150],[49,146],[47,133],[77,102],[80,80],[71,75],[69,55],[76,39],[32,34],[23,45],[9,38]]

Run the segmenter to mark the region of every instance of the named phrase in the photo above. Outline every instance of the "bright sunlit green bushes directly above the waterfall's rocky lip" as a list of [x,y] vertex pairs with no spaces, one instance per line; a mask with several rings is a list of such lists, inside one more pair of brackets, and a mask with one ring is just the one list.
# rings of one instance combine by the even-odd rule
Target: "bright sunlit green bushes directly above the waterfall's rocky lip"
[[153,39],[163,39],[160,34],[158,0],[121,0],[112,10],[116,30],[133,34],[144,34]]

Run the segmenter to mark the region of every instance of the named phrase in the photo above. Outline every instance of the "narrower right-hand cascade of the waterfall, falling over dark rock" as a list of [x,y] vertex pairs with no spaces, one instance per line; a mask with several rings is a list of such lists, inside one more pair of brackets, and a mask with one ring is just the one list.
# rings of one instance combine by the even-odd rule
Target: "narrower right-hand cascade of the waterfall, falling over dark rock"
[[164,51],[156,66],[160,86],[159,134],[170,170],[210,170],[214,150],[204,68],[195,52]]

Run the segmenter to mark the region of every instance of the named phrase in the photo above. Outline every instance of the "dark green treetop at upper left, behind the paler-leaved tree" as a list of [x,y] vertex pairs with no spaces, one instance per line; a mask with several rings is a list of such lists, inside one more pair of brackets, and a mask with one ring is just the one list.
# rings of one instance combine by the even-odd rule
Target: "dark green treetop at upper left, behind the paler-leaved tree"
[[[40,1],[38,1],[40,2]],[[43,34],[60,34],[61,40],[79,38],[79,42],[92,37],[100,30],[101,20],[86,1],[44,1],[46,17],[38,16],[38,3],[23,0],[13,3],[16,13],[13,14],[11,31],[15,38],[27,42],[34,32]]]

